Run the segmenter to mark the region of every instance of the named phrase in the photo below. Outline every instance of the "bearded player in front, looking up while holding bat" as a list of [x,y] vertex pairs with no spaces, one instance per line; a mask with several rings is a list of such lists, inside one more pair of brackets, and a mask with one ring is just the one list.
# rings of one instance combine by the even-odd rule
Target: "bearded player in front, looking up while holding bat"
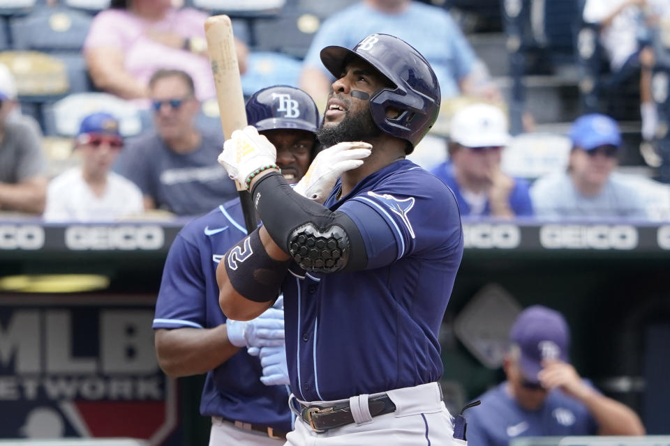
[[372,154],[321,206],[272,167],[267,139],[232,134],[219,162],[250,180],[263,226],[219,264],[221,308],[253,318],[283,291],[298,415],[287,445],[463,444],[437,383],[461,217],[449,188],[405,160],[437,118],[438,81],[419,52],[385,34],[326,47],[321,59],[337,80],[320,142],[361,139]]

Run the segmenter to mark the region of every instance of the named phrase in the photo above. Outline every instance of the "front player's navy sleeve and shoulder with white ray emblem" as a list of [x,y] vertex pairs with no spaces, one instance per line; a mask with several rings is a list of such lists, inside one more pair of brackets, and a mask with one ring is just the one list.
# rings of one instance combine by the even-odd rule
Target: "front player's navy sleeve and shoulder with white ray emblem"
[[445,256],[462,246],[454,194],[426,171],[405,171],[339,208],[356,224],[366,247],[366,269],[410,254]]

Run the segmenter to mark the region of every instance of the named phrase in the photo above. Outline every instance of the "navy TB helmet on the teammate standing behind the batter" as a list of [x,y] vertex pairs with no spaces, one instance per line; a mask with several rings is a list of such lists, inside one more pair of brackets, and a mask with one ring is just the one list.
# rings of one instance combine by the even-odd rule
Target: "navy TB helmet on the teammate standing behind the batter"
[[319,111],[310,95],[288,85],[259,90],[246,101],[246,121],[264,130],[306,130],[316,134]]

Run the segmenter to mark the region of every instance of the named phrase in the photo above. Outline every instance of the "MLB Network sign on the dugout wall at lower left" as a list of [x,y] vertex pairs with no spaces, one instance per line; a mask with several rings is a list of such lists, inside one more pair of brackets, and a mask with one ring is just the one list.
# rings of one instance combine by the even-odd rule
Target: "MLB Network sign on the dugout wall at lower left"
[[0,438],[163,443],[177,401],[156,362],[150,306],[0,302]]

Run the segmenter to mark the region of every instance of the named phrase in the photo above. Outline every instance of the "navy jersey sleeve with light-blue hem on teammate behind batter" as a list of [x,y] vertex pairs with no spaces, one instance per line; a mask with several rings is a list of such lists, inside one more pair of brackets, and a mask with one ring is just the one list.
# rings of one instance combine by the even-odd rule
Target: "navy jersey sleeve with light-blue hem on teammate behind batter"
[[163,268],[153,328],[204,328],[207,318],[204,282],[198,248],[180,233]]

